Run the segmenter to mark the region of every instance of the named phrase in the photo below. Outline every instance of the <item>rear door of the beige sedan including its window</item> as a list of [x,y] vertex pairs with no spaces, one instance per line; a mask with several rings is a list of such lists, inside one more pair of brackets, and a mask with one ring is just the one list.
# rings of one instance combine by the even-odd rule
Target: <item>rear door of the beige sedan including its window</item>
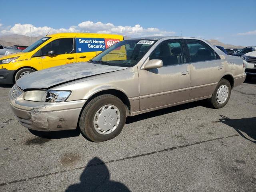
[[190,99],[210,96],[222,77],[224,65],[218,54],[205,42],[186,39],[191,70]]

